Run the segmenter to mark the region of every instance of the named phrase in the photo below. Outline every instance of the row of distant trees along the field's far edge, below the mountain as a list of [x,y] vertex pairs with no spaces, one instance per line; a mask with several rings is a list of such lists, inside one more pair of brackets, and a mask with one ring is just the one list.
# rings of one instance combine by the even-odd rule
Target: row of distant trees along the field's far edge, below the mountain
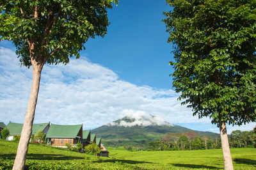
[[[234,130],[230,148],[256,148],[256,127],[251,131]],[[161,140],[148,143],[148,150],[207,150],[221,148],[219,138],[198,137],[195,132],[167,133]]]

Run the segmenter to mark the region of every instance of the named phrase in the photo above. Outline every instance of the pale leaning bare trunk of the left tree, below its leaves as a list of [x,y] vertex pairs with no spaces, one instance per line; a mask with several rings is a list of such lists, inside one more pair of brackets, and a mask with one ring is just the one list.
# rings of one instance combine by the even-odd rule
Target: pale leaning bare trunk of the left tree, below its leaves
[[20,134],[20,141],[17,149],[17,155],[15,157],[15,161],[13,164],[13,169],[15,170],[24,169],[25,167],[29,140],[31,137],[33,121],[35,118],[36,102],[38,97],[40,77],[41,77],[41,71],[42,71],[42,66],[37,65],[35,63],[37,62],[33,61],[33,80],[32,80],[30,97],[28,101],[28,109],[26,112],[24,125],[22,127],[22,131]]

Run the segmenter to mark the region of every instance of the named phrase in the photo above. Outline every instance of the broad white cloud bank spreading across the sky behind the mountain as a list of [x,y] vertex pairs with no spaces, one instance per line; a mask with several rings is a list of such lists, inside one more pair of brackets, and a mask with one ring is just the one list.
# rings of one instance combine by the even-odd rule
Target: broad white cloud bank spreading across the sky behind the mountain
[[[20,67],[15,52],[0,47],[0,121],[24,122],[31,79],[31,68]],[[209,118],[198,120],[192,116],[191,110],[181,106],[177,97],[172,89],[136,86],[119,79],[115,72],[104,66],[84,58],[70,59],[68,65],[44,66],[35,123],[83,123],[88,129],[106,125],[130,112],[135,117],[152,114],[173,124],[211,124]]]

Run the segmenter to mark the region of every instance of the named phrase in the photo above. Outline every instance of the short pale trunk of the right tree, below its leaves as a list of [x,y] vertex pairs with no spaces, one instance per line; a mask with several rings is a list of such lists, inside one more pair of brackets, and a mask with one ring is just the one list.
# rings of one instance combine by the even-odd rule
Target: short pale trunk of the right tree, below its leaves
[[220,122],[220,137],[221,137],[221,148],[223,154],[224,167],[226,170],[232,170],[232,157],[228,144],[228,134],[225,122]]

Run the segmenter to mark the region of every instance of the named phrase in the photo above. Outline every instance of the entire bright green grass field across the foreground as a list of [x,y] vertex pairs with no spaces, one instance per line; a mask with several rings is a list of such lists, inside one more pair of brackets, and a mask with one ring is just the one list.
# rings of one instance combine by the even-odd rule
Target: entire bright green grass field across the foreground
[[[0,140],[0,169],[12,169],[17,142]],[[26,169],[222,169],[221,150],[126,151],[109,158],[29,144]],[[256,149],[231,149],[235,169],[256,169]]]

